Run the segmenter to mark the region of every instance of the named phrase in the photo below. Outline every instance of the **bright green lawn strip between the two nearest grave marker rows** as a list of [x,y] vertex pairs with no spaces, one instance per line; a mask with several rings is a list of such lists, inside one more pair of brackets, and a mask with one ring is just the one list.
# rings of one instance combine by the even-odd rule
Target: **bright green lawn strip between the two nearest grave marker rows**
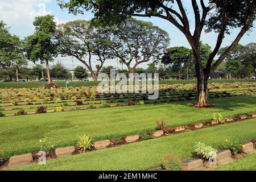
[[[208,129],[171,135],[114,148],[48,160],[46,165],[31,164],[17,170],[147,170],[161,165],[161,159],[172,152],[181,159],[190,158],[195,143],[204,142],[214,148],[228,139],[245,142],[256,137],[256,119]],[[255,159],[254,159],[255,160]],[[254,163],[255,164],[255,163]],[[14,169],[15,170],[15,169]]]

